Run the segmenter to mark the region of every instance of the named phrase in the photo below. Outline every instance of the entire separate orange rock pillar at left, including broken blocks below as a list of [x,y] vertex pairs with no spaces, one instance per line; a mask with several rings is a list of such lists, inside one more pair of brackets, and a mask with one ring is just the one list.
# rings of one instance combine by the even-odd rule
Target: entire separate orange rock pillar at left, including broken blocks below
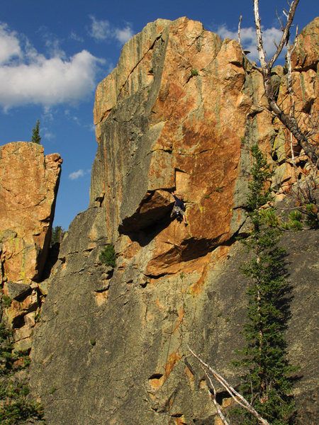
[[36,143],[0,147],[0,277],[18,348],[30,348],[61,164],[59,154],[44,156]]

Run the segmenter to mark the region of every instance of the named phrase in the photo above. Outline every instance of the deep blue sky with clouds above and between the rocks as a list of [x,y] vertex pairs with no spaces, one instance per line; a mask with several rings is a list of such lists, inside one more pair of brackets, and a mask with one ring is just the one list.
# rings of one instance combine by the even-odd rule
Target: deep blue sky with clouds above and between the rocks
[[[267,52],[279,36],[286,0],[260,0]],[[89,203],[96,153],[96,85],[116,67],[123,44],[157,18],[201,21],[237,38],[254,55],[252,0],[10,0],[0,5],[0,145],[29,141],[40,120],[45,154],[63,158],[54,225],[64,229]],[[299,32],[319,15],[318,0],[300,0]]]

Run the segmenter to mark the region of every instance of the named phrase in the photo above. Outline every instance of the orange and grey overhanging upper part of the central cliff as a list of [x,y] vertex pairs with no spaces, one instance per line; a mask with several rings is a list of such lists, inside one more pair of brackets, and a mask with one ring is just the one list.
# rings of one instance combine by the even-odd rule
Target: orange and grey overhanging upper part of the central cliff
[[[103,164],[103,179],[93,179],[91,205],[103,193],[114,235],[160,227],[147,273],[176,272],[242,225],[235,185],[252,106],[244,85],[237,42],[187,18],[148,24],[99,84],[94,169]],[[172,190],[184,195],[188,227],[169,220]]]

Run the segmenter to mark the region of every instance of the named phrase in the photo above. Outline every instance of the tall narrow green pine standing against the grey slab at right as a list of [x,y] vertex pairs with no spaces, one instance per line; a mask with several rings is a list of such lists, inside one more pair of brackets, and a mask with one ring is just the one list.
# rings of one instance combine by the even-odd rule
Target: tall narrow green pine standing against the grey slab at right
[[[247,323],[243,334],[246,345],[240,361],[246,370],[241,392],[272,425],[290,424],[293,418],[291,374],[296,371],[286,359],[284,331],[289,319],[289,299],[284,279],[284,250],[278,246],[280,231],[267,179],[272,175],[257,145],[252,147],[252,180],[248,196],[248,215],[252,220],[250,237],[243,240],[252,259],[241,268],[250,279]],[[240,413],[241,424],[257,425],[257,419]]]

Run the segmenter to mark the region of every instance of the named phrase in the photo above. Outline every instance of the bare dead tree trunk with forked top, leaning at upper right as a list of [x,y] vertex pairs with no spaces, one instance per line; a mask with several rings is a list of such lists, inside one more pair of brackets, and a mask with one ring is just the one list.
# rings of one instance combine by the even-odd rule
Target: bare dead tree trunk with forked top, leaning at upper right
[[316,168],[319,168],[319,154],[318,149],[313,142],[311,142],[310,137],[313,134],[313,130],[303,130],[301,125],[298,123],[294,113],[294,106],[292,105],[290,108],[290,113],[286,113],[284,108],[279,106],[276,101],[276,92],[272,86],[272,68],[274,67],[274,62],[276,62],[277,58],[281,54],[281,51],[284,48],[284,45],[287,46],[287,58],[289,60],[288,64],[288,86],[289,91],[291,93],[292,90],[292,82],[291,82],[291,53],[296,47],[296,40],[292,45],[289,43],[290,38],[290,28],[291,23],[293,22],[293,18],[295,16],[296,7],[298,5],[299,0],[291,1],[289,4],[289,11],[284,12],[287,18],[286,26],[282,26],[282,36],[279,42],[279,45],[276,47],[276,52],[272,56],[270,60],[266,60],[266,53],[264,51],[264,42],[262,38],[262,27],[260,23],[259,16],[259,0],[254,0],[254,22],[256,26],[256,35],[257,35],[257,50],[259,52],[259,60],[261,64],[261,69],[259,71],[262,73],[262,78],[264,82],[264,91],[267,97],[267,101],[269,104],[269,110],[279,118],[282,124],[291,132],[293,137],[295,137],[298,145],[303,149],[306,155],[309,157],[310,161],[315,165]]

